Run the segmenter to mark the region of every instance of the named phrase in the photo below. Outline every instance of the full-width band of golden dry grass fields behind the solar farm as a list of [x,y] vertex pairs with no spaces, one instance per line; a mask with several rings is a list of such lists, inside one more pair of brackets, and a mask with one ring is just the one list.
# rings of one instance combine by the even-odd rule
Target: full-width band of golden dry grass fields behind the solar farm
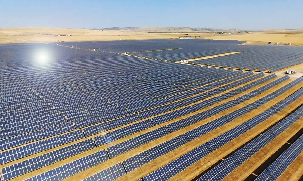
[[[70,37],[45,35],[46,33],[70,34]],[[130,30],[89,30],[69,28],[0,28],[0,43],[31,43],[59,41],[104,41],[104,40],[143,40],[171,38],[206,38],[214,40],[243,40],[246,44],[267,43],[268,41],[303,45],[303,33],[261,32],[248,34],[214,34],[205,32],[132,32]]]

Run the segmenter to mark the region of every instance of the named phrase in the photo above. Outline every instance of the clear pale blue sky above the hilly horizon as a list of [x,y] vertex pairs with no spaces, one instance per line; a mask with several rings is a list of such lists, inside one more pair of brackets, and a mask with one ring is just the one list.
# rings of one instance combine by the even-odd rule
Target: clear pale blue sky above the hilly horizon
[[0,27],[303,28],[303,1],[0,0]]

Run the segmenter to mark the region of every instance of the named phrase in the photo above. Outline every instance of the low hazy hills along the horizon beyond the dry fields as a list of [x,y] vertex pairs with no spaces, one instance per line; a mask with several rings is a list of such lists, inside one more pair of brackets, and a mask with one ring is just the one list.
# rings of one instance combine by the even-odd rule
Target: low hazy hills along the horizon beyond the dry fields
[[129,32],[236,32],[236,31],[248,31],[240,29],[216,29],[216,28],[191,28],[191,27],[111,27],[93,30],[120,30]]

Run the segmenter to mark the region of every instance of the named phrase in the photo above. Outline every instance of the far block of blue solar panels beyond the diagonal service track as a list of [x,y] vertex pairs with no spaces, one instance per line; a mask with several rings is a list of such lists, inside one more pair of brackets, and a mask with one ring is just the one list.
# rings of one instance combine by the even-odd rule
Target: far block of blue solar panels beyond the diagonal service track
[[[240,52],[228,56],[198,60],[193,63],[231,68],[239,67],[240,69],[248,68],[249,70],[258,69],[259,71],[269,69],[270,72],[303,63],[302,47],[239,45],[241,43],[244,42],[226,40],[139,40],[136,42],[118,41],[111,43],[110,46],[106,46],[104,42],[77,43],[77,46],[88,49],[101,47],[100,51],[128,52],[130,55],[167,61]],[[61,44],[75,46],[75,43]],[[126,48],[127,46],[132,48]]]

